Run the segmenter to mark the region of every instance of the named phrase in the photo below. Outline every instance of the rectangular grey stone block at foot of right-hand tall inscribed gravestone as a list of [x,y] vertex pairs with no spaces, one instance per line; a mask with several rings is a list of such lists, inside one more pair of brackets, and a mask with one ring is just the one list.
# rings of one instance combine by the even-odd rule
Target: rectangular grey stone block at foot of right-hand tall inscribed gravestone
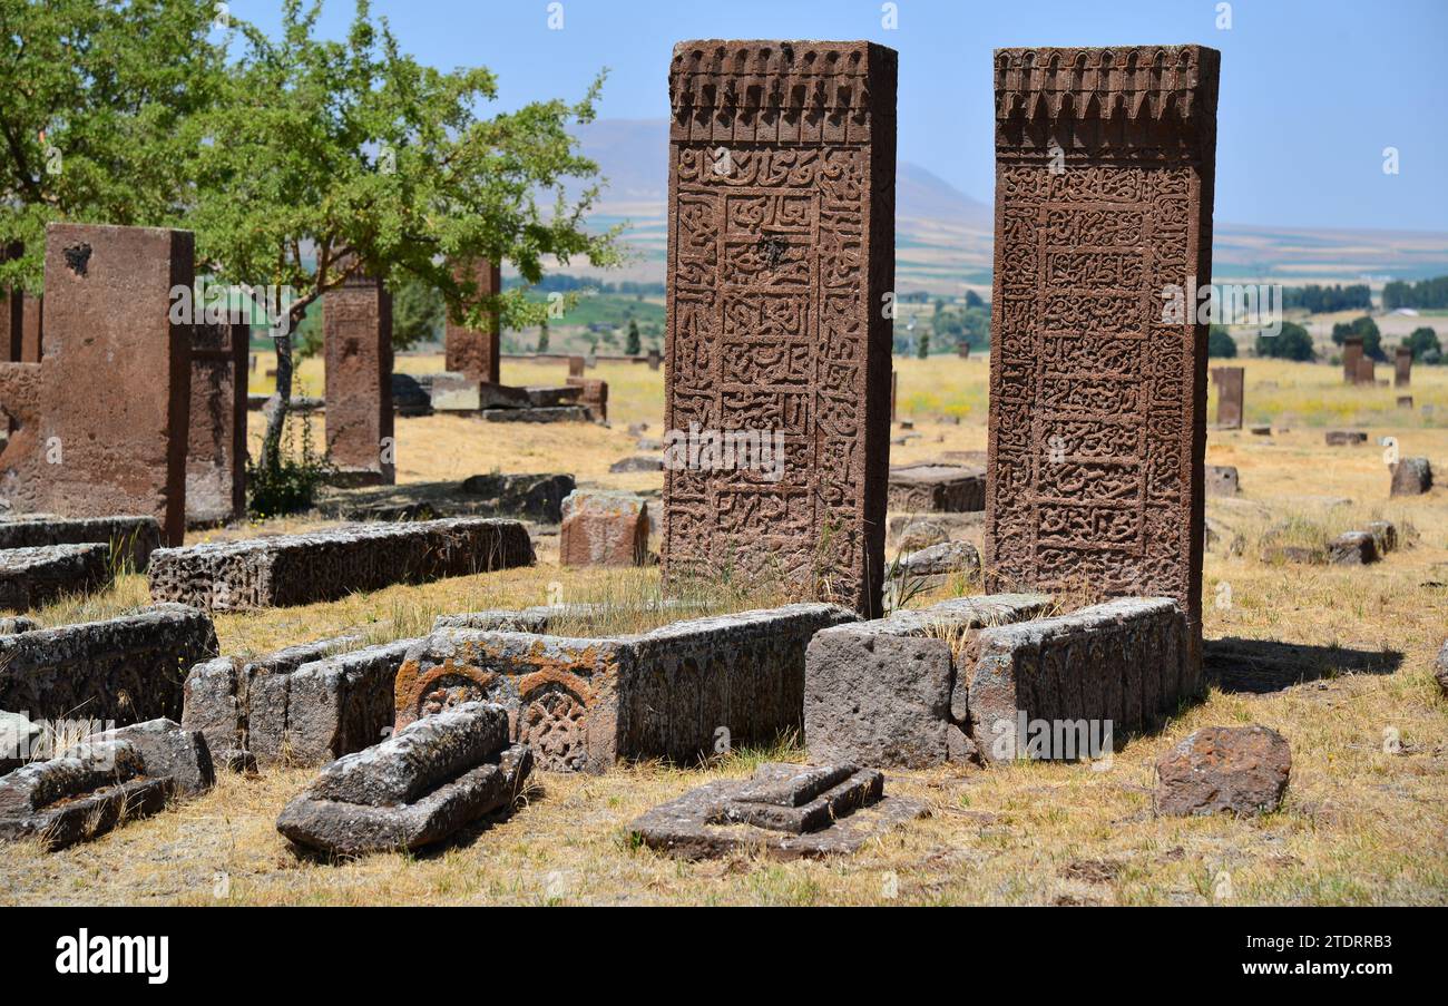
[[[1135,732],[1202,692],[1186,618],[1166,598],[1121,598],[983,628],[961,659],[960,680],[970,737],[986,761],[1069,757],[1058,750],[1061,737],[1080,756],[1082,741],[1108,738],[1106,721],[1112,735]],[[1040,750],[1031,744],[1041,737],[1038,722],[1050,731]]]

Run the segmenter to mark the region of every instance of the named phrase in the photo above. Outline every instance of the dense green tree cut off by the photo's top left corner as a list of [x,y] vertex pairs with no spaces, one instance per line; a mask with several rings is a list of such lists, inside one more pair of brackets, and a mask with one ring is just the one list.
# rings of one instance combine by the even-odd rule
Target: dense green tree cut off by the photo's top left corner
[[[45,224],[175,224],[216,101],[211,0],[0,0],[0,287],[41,292]],[[3,259],[3,256],[0,256]]]

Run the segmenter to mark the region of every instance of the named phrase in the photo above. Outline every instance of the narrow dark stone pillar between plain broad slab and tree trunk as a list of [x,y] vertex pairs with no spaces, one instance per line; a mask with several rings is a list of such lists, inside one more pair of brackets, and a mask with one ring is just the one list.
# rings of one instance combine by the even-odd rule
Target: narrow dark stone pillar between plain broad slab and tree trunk
[[187,524],[246,514],[246,356],[251,326],[197,324],[191,340]]

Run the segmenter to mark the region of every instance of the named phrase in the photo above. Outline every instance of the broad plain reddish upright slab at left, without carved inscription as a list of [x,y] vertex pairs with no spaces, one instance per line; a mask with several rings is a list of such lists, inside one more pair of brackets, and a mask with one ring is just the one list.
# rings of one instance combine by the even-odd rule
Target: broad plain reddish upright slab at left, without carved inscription
[[149,515],[181,544],[191,324],[171,308],[193,281],[190,232],[46,227],[45,358],[0,365],[12,510]]

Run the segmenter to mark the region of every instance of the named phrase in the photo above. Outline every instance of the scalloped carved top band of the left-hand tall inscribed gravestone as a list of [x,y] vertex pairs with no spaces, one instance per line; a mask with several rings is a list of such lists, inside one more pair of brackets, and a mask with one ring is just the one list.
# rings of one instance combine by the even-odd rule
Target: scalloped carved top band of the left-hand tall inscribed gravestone
[[[673,139],[866,140],[873,119],[895,116],[896,68],[896,52],[873,42],[679,42],[669,65]],[[775,132],[779,119],[801,117],[850,127]]]

